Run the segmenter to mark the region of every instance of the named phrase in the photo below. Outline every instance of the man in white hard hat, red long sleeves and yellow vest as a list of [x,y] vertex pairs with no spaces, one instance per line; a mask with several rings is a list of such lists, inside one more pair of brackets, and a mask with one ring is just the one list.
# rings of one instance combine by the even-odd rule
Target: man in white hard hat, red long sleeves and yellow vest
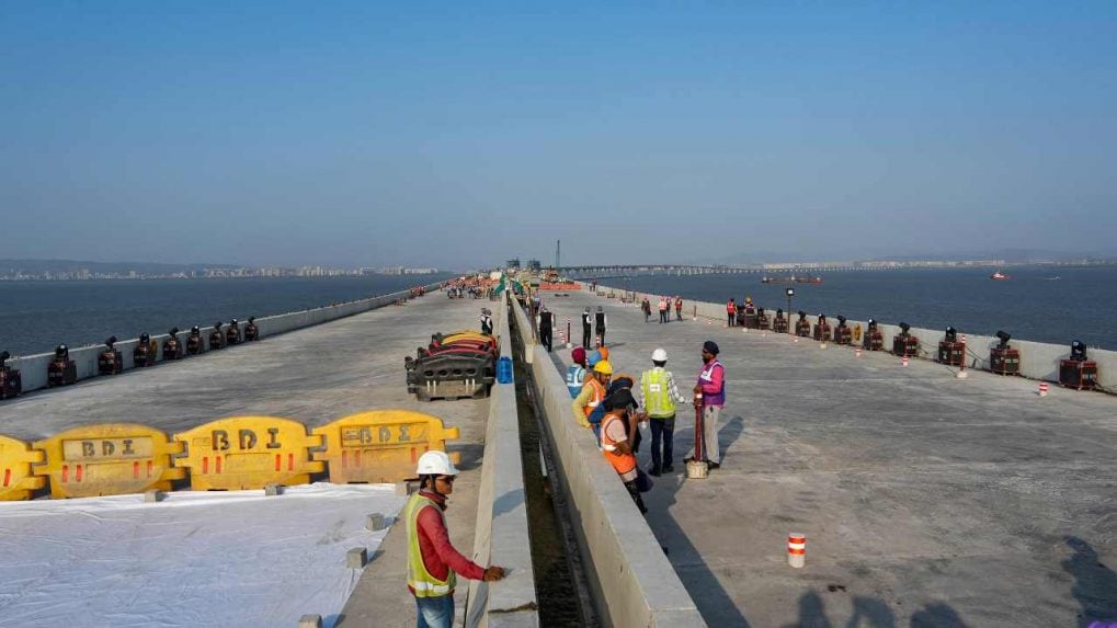
[[483,568],[450,544],[446,529],[446,498],[458,476],[446,451],[419,457],[419,491],[403,508],[408,530],[408,589],[416,598],[419,628],[454,625],[454,587],[457,574],[491,582],[504,578],[504,568]]

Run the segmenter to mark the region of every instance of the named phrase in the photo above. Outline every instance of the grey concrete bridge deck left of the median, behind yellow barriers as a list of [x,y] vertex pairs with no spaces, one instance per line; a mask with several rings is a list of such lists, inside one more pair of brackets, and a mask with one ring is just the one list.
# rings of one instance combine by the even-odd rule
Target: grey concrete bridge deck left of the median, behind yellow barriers
[[[461,430],[459,439],[447,444],[450,451],[461,454],[462,469],[447,516],[455,545],[468,554],[489,403],[487,399],[418,402],[407,393],[403,358],[426,346],[436,331],[475,329],[483,305],[489,303],[432,293],[402,307],[382,307],[180,362],[0,401],[0,434],[35,440],[77,426],[116,421],[175,432],[239,415],[277,416],[313,427],[362,410],[428,412]],[[389,534],[382,552],[402,536],[398,532]],[[375,625],[413,626],[414,602],[404,586],[402,559],[381,560],[384,555],[374,558],[364,574],[367,579],[385,570],[399,572],[399,578],[384,579],[374,589]],[[359,589],[354,596],[360,598],[362,590],[373,591]],[[465,593],[466,588],[459,587],[459,610]]]

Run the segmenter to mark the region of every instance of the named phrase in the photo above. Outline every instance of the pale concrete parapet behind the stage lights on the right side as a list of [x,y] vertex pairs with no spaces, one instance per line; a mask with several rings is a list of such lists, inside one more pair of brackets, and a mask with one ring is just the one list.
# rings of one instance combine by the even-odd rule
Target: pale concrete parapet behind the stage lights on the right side
[[[599,289],[615,289],[609,288],[609,286],[598,286]],[[709,303],[709,302],[691,302],[693,312],[700,320],[713,321],[716,324],[725,323],[726,312],[724,303]],[[779,305],[777,307],[783,307]],[[765,311],[775,313],[775,307]],[[792,331],[794,331],[794,322],[799,317],[794,313],[787,313],[791,316],[790,325]],[[832,321],[831,326],[838,324],[837,314],[828,314],[828,321]],[[806,320],[811,323],[811,329],[814,329],[815,323],[818,323],[818,315],[808,314]],[[846,324],[850,327],[856,325],[861,325],[862,333],[868,329],[867,321],[846,321]],[[885,352],[891,350],[892,336],[900,332],[899,325],[886,324],[878,321],[877,329],[885,339]],[[920,353],[917,358],[934,360],[938,353],[938,341],[943,339],[945,330],[928,330],[924,327],[911,327],[909,333],[919,339]],[[996,346],[997,339],[994,336],[978,335],[966,333],[965,330],[958,330],[958,333],[966,334],[966,368],[975,370],[989,370],[989,350]],[[830,339],[828,339],[830,342]],[[1059,381],[1059,360],[1067,358],[1070,354],[1070,340],[1067,344],[1051,344],[1043,342],[1032,342],[1027,340],[1012,339],[1011,345],[1014,349],[1020,350],[1020,374],[1034,380],[1041,381]],[[1101,387],[1109,390],[1117,390],[1117,351],[1107,351],[1104,349],[1090,349],[1089,359],[1098,363],[1098,383]]]

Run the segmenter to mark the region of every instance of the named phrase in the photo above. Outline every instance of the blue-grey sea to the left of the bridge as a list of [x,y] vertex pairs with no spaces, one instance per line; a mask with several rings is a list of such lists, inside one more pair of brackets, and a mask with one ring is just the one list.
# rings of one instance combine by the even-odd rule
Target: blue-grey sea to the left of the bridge
[[27,355],[99,344],[111,335],[189,330],[390,294],[450,275],[0,282],[0,351]]

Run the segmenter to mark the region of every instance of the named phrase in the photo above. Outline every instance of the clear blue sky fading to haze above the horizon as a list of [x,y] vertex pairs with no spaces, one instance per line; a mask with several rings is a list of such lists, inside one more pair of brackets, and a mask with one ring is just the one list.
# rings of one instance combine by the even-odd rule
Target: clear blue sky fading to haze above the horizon
[[0,257],[1117,253],[1117,2],[0,3]]

